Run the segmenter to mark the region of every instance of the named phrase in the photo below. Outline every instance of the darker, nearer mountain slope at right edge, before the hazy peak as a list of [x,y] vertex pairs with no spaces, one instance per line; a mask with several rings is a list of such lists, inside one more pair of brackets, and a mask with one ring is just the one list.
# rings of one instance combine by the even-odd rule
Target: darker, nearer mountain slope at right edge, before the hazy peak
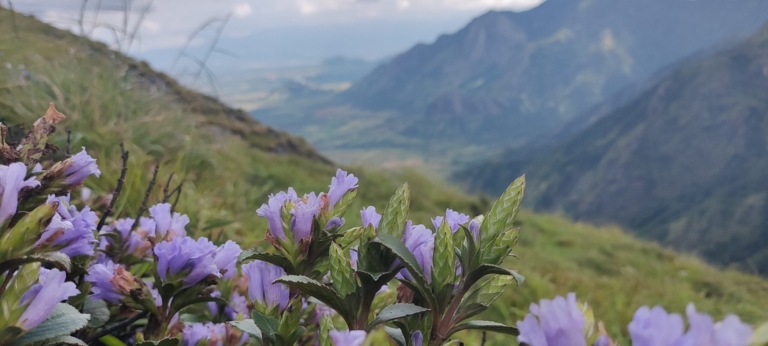
[[526,173],[538,210],[768,274],[768,24],[545,152],[464,175],[498,191],[496,181]]

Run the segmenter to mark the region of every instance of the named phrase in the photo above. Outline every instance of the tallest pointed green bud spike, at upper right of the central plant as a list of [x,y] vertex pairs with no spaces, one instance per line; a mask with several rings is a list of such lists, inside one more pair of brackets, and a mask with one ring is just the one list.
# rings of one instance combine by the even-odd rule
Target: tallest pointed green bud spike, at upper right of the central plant
[[484,250],[502,233],[512,228],[520,211],[520,203],[525,192],[525,176],[517,178],[491,207],[480,225],[480,237]]

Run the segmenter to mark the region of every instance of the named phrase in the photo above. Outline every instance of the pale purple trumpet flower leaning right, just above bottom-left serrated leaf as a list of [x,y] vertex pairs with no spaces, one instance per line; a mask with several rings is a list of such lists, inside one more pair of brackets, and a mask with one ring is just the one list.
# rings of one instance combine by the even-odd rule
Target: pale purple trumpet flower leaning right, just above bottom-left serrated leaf
[[58,269],[40,269],[38,283],[21,297],[21,305],[27,308],[16,326],[30,330],[48,318],[56,304],[80,294],[74,283],[65,282],[66,278],[67,274]]

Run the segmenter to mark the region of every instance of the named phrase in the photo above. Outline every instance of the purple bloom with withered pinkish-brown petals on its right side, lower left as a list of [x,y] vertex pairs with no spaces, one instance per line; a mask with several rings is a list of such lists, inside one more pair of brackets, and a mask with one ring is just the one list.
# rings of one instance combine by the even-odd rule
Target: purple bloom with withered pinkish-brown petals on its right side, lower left
[[88,268],[85,281],[93,284],[91,292],[94,299],[104,299],[115,304],[120,303],[136,286],[133,275],[112,261],[92,265]]

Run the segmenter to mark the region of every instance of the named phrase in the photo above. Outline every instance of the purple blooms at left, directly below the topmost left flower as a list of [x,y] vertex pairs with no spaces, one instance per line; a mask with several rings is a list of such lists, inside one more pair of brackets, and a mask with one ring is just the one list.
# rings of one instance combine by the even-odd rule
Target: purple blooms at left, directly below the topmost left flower
[[35,247],[59,251],[69,257],[93,255],[97,243],[93,235],[98,221],[96,213],[87,206],[80,211],[70,206],[69,196],[48,196],[48,202],[58,202],[59,208]]

